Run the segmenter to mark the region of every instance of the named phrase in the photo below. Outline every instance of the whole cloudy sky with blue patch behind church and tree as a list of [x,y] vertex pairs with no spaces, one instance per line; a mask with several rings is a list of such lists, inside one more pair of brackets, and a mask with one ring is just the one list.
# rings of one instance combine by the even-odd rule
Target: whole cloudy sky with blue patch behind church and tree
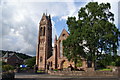
[[51,15],[53,44],[55,35],[59,37],[63,29],[68,30],[67,17],[77,17],[78,10],[90,1],[111,3],[111,12],[115,14],[118,27],[119,0],[0,0],[0,50],[35,56],[38,27],[43,13]]

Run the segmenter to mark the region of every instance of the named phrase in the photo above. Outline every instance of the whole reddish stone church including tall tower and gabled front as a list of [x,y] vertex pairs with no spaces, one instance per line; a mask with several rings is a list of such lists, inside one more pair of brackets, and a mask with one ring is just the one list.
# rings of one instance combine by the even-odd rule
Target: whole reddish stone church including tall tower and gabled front
[[[52,23],[50,15],[43,14],[39,23],[38,42],[36,50],[36,65],[39,70],[46,69],[64,69],[72,65],[65,56],[63,56],[62,41],[69,36],[69,33],[63,29],[57,39],[55,36],[54,47],[52,48]],[[82,68],[86,69],[86,61],[82,59]]]

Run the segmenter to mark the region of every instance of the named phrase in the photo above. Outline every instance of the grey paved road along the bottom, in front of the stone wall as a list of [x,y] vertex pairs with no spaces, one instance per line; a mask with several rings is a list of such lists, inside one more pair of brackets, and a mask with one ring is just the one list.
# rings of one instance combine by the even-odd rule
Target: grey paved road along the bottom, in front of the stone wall
[[54,76],[49,74],[16,73],[15,80],[120,80],[118,77],[76,77]]

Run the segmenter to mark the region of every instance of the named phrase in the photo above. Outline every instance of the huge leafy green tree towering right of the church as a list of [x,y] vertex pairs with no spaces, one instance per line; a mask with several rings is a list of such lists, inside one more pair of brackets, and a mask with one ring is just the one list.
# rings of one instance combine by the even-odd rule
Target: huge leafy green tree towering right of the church
[[69,60],[77,62],[81,56],[94,62],[103,52],[117,54],[120,31],[110,9],[109,3],[90,2],[78,11],[78,19],[68,17],[70,36],[63,45]]

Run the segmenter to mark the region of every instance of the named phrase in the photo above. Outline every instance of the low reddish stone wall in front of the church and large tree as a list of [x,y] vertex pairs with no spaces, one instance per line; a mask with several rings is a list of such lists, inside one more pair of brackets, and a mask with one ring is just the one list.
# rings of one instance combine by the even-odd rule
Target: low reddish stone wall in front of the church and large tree
[[96,76],[96,77],[118,77],[118,71],[49,71],[50,75],[62,75],[62,76]]

